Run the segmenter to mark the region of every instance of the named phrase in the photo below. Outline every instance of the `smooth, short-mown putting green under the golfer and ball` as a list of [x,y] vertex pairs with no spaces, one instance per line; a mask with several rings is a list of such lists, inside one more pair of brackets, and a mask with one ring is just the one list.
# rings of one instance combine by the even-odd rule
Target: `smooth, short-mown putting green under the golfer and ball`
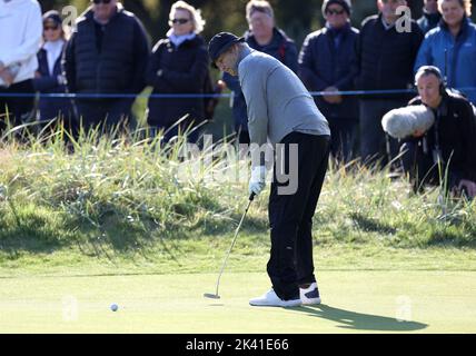
[[[318,274],[323,305],[256,308],[265,274],[0,279],[1,333],[475,333],[475,271]],[[110,306],[119,309],[112,312]]]

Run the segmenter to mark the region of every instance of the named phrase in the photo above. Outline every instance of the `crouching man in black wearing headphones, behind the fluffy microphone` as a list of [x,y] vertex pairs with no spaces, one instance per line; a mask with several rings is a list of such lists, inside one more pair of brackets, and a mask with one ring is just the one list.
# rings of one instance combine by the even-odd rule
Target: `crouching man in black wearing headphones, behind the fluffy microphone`
[[435,125],[401,146],[403,164],[414,190],[425,184],[476,197],[476,119],[467,99],[445,89],[438,68],[422,67],[415,77],[419,97],[435,112]]

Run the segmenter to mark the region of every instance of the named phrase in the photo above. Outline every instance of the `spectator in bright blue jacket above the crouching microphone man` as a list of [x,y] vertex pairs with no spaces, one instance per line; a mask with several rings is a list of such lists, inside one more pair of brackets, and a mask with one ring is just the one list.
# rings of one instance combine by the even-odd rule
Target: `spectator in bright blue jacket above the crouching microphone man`
[[422,66],[437,67],[450,88],[459,89],[476,103],[476,26],[469,20],[470,0],[438,0],[443,14],[427,33],[418,52],[415,72]]

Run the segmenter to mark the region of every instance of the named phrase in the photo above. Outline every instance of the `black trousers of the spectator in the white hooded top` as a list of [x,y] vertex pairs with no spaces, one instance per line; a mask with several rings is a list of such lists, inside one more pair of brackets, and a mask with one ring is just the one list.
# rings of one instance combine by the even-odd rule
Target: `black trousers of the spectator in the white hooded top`
[[11,98],[2,97],[2,93],[28,93],[33,95],[33,81],[24,80],[9,88],[0,87],[0,132],[7,128],[7,117],[11,126],[31,122],[34,119],[34,97]]

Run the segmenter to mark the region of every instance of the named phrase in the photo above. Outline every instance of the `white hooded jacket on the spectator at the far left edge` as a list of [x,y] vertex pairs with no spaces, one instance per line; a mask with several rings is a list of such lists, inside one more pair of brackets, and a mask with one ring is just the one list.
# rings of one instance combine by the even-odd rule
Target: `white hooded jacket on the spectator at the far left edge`
[[[43,24],[37,0],[0,0],[0,61],[19,66],[14,83],[33,79]],[[4,86],[0,79],[0,86]]]

